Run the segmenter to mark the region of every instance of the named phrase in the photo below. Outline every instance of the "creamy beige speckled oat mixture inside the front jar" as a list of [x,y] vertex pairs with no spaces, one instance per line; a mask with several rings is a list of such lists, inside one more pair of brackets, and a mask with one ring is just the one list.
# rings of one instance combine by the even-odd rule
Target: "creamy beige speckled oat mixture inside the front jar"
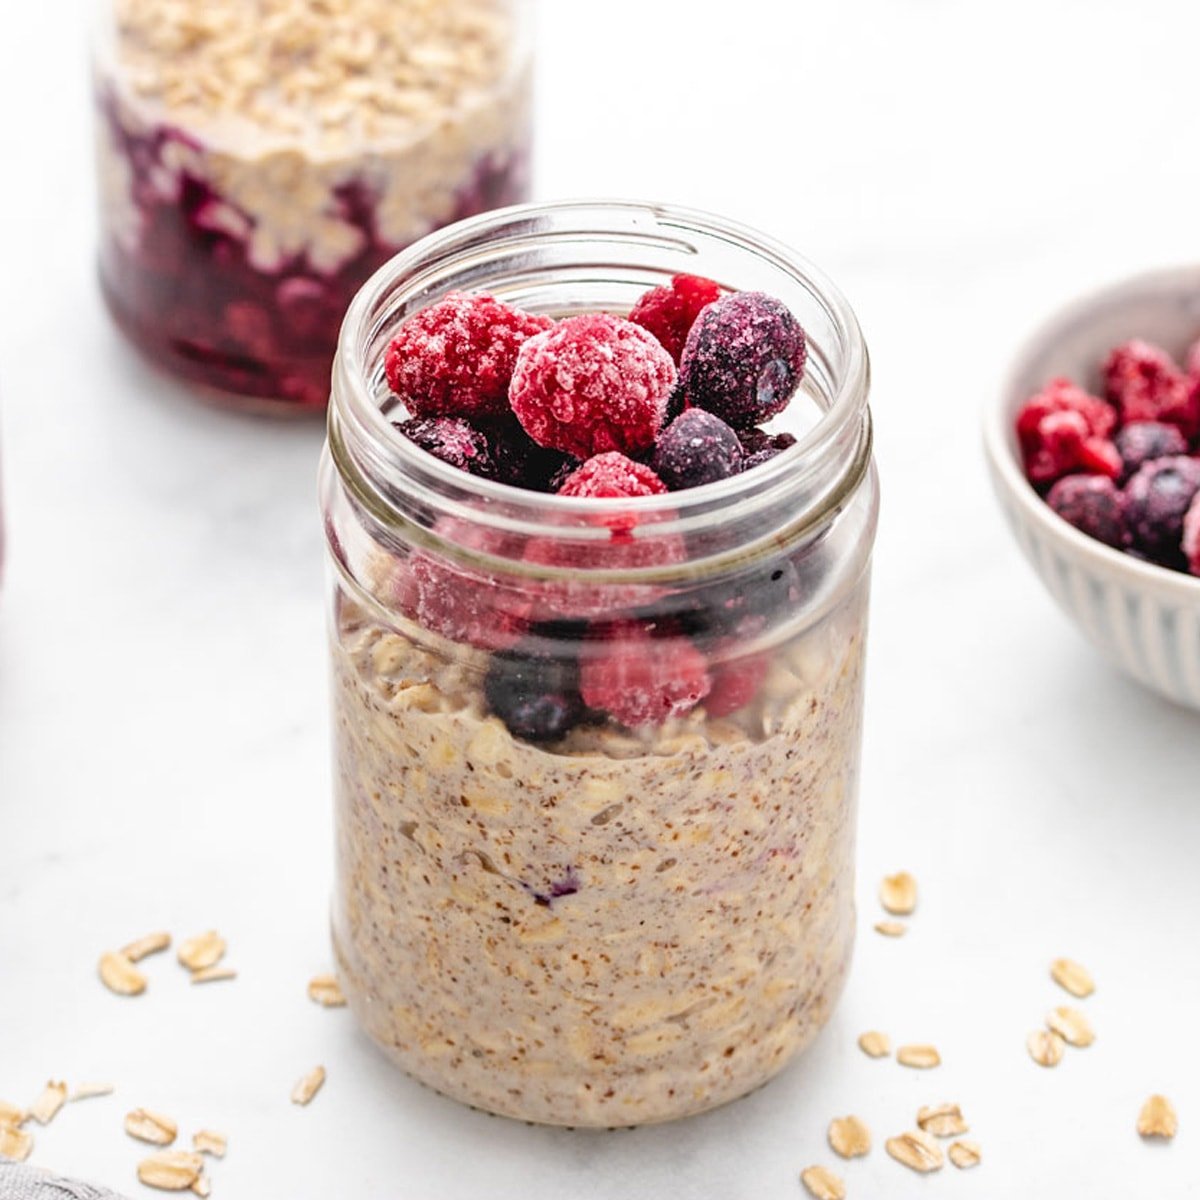
[[758,698],[640,737],[514,739],[448,662],[340,598],[346,995],[416,1079],[570,1126],[758,1086],[827,1020],[853,942],[865,586]]

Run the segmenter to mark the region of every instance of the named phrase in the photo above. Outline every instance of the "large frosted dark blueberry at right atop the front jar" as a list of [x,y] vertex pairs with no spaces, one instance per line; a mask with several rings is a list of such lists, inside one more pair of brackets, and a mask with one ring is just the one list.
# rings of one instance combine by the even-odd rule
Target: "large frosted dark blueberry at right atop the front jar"
[[762,292],[734,292],[696,318],[679,379],[690,407],[744,430],[787,407],[806,358],[804,330],[786,305]]

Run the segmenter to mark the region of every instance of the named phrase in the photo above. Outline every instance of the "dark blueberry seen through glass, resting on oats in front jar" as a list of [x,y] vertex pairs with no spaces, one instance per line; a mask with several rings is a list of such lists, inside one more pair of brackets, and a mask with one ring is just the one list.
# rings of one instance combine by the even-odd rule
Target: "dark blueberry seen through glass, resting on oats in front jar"
[[542,640],[528,638],[493,654],[484,696],[509,732],[527,742],[557,742],[583,718],[578,664],[550,656]]

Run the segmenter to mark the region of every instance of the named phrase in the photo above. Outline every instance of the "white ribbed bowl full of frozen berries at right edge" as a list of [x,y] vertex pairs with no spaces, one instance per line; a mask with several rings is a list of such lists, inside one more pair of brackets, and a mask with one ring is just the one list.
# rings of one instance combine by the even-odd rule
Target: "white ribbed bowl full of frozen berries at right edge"
[[1200,709],[1200,266],[1112,284],[1042,325],[985,445],[1058,605],[1135,679]]

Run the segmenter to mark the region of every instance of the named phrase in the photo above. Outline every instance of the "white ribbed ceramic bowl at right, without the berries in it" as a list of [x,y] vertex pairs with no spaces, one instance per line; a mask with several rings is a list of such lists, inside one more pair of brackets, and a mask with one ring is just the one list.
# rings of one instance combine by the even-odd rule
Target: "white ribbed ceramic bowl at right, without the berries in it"
[[1200,334],[1200,266],[1141,275],[1040,326],[986,415],[992,484],[1025,557],[1093,644],[1147,688],[1200,709],[1200,577],[1142,563],[1069,526],[1021,470],[1014,421],[1055,376],[1103,395],[1100,364],[1130,337],[1182,355]]

